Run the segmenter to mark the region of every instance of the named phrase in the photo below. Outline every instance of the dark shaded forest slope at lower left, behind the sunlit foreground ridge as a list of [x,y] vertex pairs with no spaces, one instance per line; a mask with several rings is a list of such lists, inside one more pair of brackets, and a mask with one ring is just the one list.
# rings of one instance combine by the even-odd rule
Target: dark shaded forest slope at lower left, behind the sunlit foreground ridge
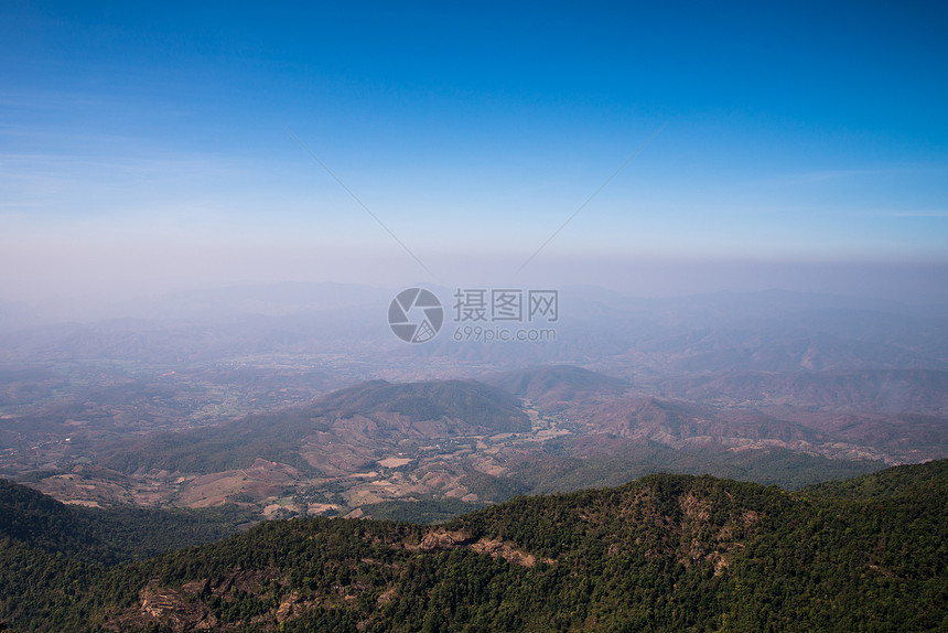
[[[106,509],[64,505],[0,480],[0,621],[23,631],[69,630],[76,596],[106,569],[234,534],[250,515],[234,506],[206,509]],[[78,622],[76,625],[79,625]]]

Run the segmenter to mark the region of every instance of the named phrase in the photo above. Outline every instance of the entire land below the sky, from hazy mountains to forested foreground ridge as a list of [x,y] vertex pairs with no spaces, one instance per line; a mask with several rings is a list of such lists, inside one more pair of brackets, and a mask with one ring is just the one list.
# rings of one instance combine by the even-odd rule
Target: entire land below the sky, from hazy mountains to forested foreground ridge
[[412,345],[392,296],[233,287],[49,325],[9,307],[0,618],[948,624],[948,308],[575,287],[553,342]]

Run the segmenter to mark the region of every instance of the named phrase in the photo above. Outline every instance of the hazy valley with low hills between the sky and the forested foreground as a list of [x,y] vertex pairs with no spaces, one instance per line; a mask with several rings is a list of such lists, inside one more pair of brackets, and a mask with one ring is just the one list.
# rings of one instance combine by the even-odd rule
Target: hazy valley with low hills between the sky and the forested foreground
[[0,332],[0,475],[88,506],[397,518],[650,472],[794,489],[948,455],[930,308],[583,288],[556,342],[412,346],[378,330],[378,293],[313,310],[326,288],[289,290],[272,315],[228,312],[258,305],[235,290],[191,320]]

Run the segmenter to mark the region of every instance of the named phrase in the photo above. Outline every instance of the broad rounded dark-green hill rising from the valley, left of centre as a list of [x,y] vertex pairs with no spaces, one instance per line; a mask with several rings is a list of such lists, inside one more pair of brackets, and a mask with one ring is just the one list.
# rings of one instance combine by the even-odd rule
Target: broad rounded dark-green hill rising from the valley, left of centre
[[374,380],[334,391],[305,407],[117,442],[99,459],[125,473],[207,474],[249,468],[257,459],[319,473],[340,468],[325,451],[330,446],[345,446],[347,453],[362,454],[362,463],[371,461],[376,449],[397,447],[402,439],[529,429],[516,398],[480,383],[394,385]]

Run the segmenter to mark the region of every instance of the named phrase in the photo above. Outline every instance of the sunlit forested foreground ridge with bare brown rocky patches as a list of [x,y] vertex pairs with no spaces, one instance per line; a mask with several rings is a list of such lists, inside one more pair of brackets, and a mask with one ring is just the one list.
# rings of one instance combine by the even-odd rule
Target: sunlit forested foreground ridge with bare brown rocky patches
[[0,618],[24,631],[945,630],[946,465],[876,473],[859,495],[649,475],[438,527],[270,522],[130,567],[74,565],[46,578],[45,602],[15,608],[0,588]]

